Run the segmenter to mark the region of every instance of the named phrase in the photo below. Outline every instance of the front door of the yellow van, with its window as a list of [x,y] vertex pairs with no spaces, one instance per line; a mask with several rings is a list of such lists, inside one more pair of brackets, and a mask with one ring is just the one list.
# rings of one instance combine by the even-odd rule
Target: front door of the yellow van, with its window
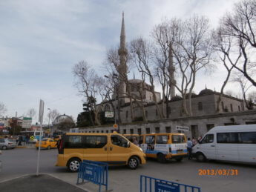
[[111,135],[109,143],[109,164],[122,165],[128,162],[131,148],[128,148],[128,140],[119,135]]

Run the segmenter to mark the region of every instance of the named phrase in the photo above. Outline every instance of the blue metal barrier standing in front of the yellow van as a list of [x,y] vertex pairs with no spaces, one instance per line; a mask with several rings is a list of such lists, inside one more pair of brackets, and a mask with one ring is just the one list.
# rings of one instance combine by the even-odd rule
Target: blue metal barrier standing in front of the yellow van
[[108,191],[108,164],[84,160],[79,165],[76,185],[79,184],[79,179],[82,179],[82,182],[88,181],[99,185],[99,192],[101,185],[105,185],[105,189]]

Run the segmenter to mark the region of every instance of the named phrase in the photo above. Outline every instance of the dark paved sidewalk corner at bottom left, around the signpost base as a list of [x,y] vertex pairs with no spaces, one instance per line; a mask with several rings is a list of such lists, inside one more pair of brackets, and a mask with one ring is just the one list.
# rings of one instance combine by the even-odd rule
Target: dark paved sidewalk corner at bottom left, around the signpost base
[[42,192],[85,192],[82,188],[64,182],[54,176],[48,174],[34,174],[20,176],[16,179],[10,179],[5,182],[0,182],[1,192],[27,192],[27,191],[42,191]]

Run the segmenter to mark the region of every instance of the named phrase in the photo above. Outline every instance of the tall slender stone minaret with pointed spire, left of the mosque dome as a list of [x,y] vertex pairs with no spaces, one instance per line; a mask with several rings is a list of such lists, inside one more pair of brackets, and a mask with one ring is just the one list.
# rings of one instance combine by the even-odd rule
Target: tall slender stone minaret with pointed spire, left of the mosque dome
[[121,35],[120,35],[120,47],[118,50],[119,54],[119,66],[117,67],[119,73],[119,97],[122,104],[125,102],[125,92],[126,92],[126,73],[127,73],[127,49],[125,47],[125,18],[124,13],[122,12],[122,28],[121,28]]

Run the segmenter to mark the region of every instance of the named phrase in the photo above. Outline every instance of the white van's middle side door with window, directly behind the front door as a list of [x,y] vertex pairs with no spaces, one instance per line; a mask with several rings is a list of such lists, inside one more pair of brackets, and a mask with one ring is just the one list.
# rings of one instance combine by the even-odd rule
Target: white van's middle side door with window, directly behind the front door
[[216,133],[216,159],[234,161],[239,160],[238,133]]

